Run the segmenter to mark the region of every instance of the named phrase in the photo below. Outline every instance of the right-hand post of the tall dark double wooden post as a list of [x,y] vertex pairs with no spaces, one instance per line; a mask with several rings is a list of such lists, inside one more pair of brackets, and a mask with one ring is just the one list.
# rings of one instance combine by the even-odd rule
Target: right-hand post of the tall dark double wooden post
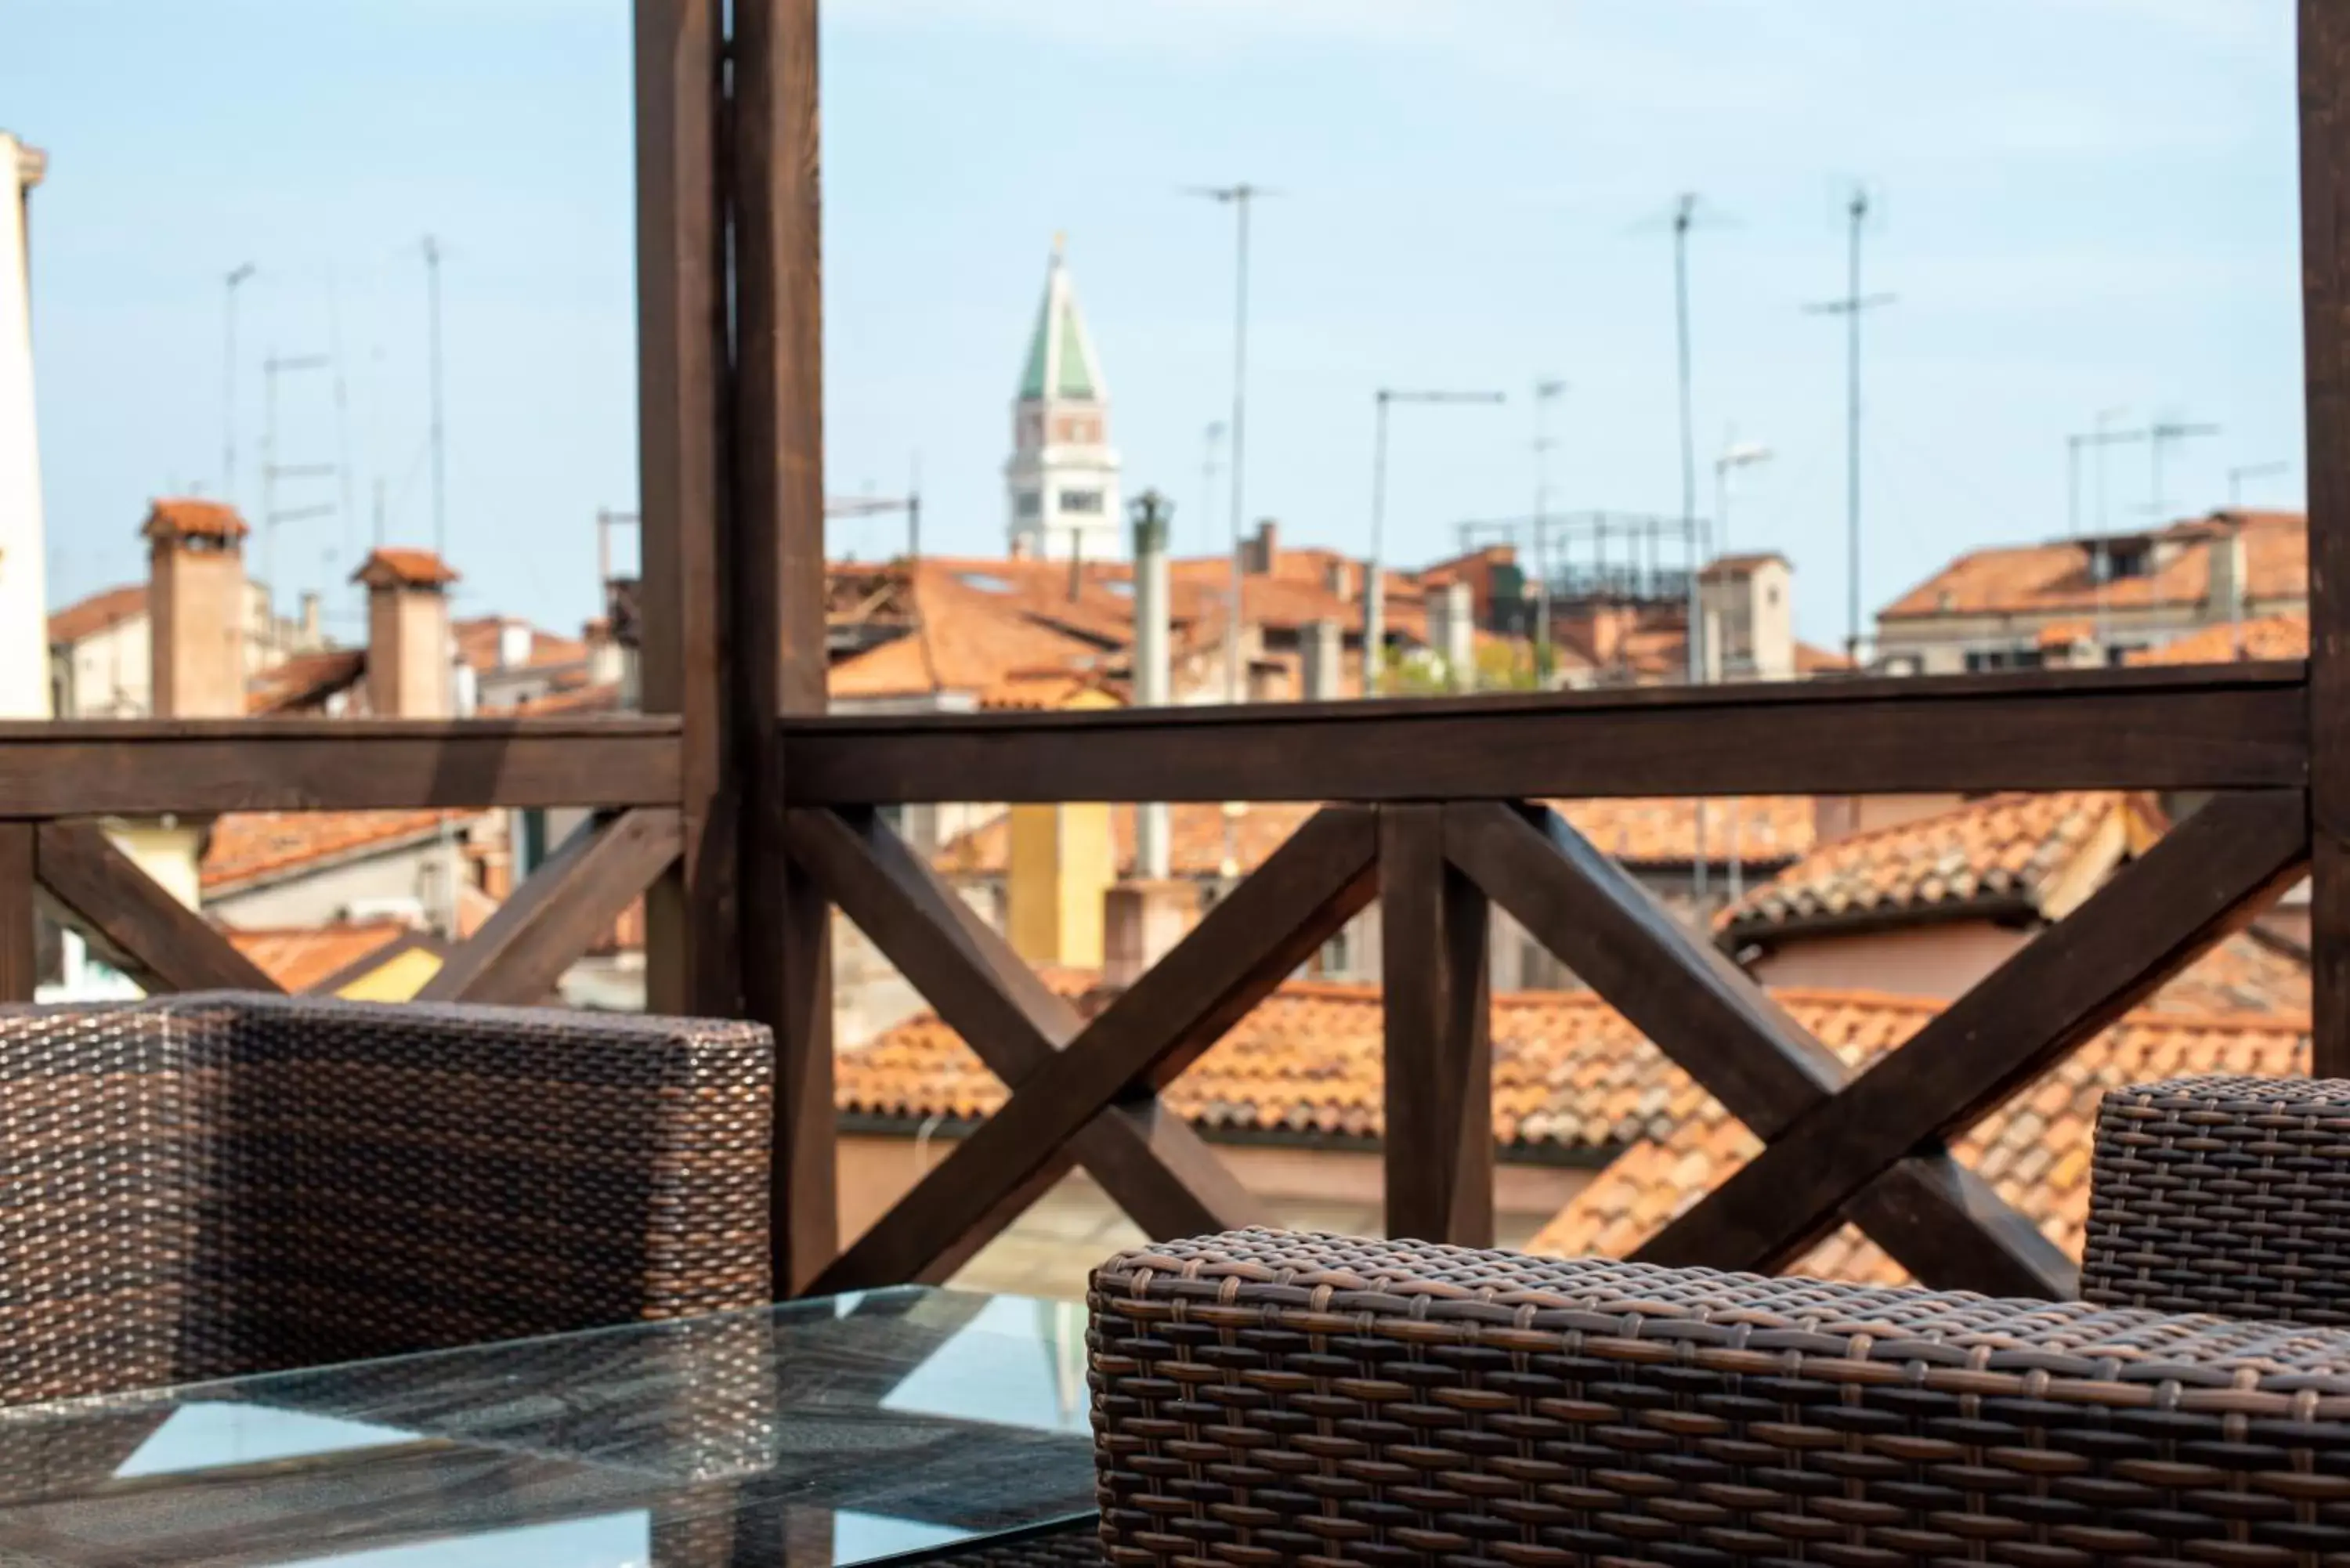
[[785,856],[776,724],[825,708],[815,0],[736,0],[731,61],[743,980],[747,1016],[776,1030],[776,1288],[797,1293],[839,1251],[830,910]]

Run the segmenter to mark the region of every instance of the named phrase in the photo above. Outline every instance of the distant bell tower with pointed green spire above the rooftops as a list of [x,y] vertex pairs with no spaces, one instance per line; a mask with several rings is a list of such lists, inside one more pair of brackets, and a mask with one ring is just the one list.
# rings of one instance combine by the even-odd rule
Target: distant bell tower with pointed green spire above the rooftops
[[1013,456],[1003,465],[1013,555],[1109,559],[1119,552],[1119,454],[1109,444],[1109,388],[1093,357],[1062,235],[1043,277],[1043,306],[1013,400]]

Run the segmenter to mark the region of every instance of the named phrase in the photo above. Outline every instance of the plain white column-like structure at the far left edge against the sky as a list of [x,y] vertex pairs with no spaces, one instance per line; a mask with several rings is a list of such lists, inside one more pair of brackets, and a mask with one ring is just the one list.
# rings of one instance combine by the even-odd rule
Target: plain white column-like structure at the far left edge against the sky
[[0,132],[0,719],[49,717],[49,611],[33,433],[28,193],[45,160]]

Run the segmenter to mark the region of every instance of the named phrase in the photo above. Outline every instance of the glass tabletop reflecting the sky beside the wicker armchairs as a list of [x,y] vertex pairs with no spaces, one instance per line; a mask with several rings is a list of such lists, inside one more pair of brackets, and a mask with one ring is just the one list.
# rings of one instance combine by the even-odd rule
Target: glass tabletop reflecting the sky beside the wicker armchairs
[[895,1288],[0,1410],[0,1563],[846,1568],[1093,1514],[1074,1302]]

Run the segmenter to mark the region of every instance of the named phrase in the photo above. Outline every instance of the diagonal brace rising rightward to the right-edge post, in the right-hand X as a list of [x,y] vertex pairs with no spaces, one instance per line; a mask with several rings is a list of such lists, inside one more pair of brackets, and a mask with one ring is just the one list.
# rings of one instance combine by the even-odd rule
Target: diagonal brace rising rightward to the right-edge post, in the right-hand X
[[1636,1255],[1786,1267],[1875,1175],[1965,1133],[2268,907],[2301,877],[2303,811],[2296,790],[2211,799]]

